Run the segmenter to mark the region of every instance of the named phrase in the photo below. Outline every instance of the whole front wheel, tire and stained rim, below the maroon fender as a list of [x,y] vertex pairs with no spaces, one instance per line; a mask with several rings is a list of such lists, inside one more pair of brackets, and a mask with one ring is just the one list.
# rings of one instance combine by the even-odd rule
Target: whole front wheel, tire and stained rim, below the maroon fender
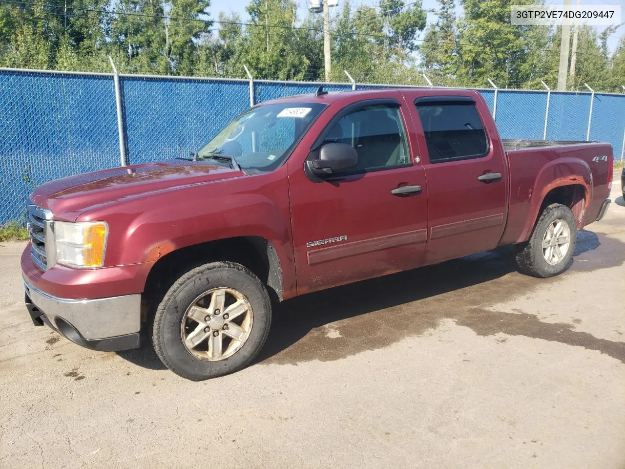
[[199,381],[244,368],[261,350],[271,302],[242,265],[199,266],[169,288],[153,323],[156,355],[177,375]]

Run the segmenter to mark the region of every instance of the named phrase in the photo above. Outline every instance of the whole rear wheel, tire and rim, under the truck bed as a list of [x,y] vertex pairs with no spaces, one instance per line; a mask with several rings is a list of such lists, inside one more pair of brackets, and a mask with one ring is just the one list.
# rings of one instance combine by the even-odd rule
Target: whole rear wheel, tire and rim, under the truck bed
[[577,240],[577,224],[571,209],[551,204],[542,211],[529,241],[516,255],[519,271],[547,278],[566,270]]

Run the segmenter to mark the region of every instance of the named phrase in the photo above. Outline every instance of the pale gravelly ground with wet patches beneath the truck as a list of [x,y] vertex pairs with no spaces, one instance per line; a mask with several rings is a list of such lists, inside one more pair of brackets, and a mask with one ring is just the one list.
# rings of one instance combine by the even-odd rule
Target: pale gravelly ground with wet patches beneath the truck
[[619,189],[557,278],[504,249],[286,301],[202,383],[32,326],[0,245],[0,467],[623,468]]

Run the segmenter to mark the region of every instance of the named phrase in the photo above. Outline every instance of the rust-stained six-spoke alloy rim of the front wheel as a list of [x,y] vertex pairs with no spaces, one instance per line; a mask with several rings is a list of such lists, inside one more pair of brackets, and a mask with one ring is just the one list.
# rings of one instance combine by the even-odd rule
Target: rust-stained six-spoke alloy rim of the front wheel
[[226,360],[246,343],[253,322],[245,295],[232,288],[212,288],[187,308],[180,333],[185,348],[196,358]]

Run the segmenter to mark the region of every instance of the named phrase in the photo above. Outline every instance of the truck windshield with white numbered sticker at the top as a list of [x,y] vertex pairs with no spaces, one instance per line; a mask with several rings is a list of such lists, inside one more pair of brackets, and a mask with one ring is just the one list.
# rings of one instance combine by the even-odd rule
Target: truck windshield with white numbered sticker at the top
[[197,156],[233,156],[241,168],[271,171],[288,156],[291,147],[325,107],[319,103],[284,103],[247,109],[197,152]]

